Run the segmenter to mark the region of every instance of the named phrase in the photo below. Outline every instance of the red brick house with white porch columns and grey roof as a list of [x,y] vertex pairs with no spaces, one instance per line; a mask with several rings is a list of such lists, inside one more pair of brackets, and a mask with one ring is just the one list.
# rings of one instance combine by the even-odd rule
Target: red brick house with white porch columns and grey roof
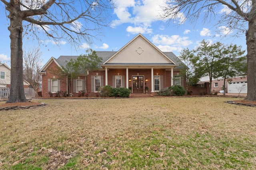
[[99,87],[105,85],[131,88],[134,94],[145,93],[145,86],[150,94],[175,84],[184,86],[184,80],[179,76],[183,63],[172,52],[160,51],[141,34],[119,51],[96,51],[96,54],[102,57],[102,64],[98,70],[88,72],[86,87],[84,74],[67,82],[66,78],[60,79],[51,71],[78,56],[52,57],[39,72],[42,75],[42,96],[49,96],[48,92],[68,91],[67,83],[75,96],[85,88],[90,96],[95,96]]

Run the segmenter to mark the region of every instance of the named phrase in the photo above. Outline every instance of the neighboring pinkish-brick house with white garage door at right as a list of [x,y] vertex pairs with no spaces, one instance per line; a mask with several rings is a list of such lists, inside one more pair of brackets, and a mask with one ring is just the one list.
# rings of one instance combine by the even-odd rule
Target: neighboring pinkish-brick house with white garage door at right
[[[207,78],[206,78],[207,79]],[[209,80],[202,80],[202,83]],[[212,92],[220,92],[223,90],[224,79],[212,80]],[[231,78],[231,81],[226,80],[226,93],[247,95],[247,76]]]

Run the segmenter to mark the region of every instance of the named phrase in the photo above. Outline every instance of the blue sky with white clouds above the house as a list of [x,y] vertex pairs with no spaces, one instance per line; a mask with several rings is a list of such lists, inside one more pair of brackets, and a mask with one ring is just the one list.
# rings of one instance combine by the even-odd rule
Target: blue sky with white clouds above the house
[[[179,24],[169,23],[159,17],[160,6],[166,5],[166,0],[112,0],[116,4],[110,14],[111,25],[104,27],[102,34],[93,39],[92,44],[81,42],[78,47],[70,44],[67,40],[61,40],[58,43],[45,41],[44,45],[23,39],[23,45],[27,47],[40,47],[42,52],[42,66],[47,63],[51,57],[58,58],[61,55],[80,55],[85,54],[86,49],[95,51],[118,51],[138,33],[141,33],[156,47],[163,52],[171,51],[175,55],[180,55],[184,48],[190,50],[198,47],[203,39],[216,43],[217,41],[226,45],[241,45],[246,50],[245,35],[234,37],[237,30],[228,29],[228,25],[215,26],[218,18],[204,23],[201,19],[196,23],[185,20]],[[217,13],[224,14],[225,6],[221,6]],[[204,16],[204,12],[200,14]],[[4,5],[0,2],[0,61],[10,66],[10,32],[8,31],[8,18]]]

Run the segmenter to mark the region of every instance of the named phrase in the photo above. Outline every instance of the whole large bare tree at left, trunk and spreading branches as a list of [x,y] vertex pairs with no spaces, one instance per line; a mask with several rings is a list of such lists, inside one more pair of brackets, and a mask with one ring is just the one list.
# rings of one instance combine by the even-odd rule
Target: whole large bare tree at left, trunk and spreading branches
[[10,24],[11,91],[7,103],[26,102],[23,88],[23,36],[41,33],[58,43],[64,38],[79,44],[100,33],[108,25],[108,0],[0,0]]

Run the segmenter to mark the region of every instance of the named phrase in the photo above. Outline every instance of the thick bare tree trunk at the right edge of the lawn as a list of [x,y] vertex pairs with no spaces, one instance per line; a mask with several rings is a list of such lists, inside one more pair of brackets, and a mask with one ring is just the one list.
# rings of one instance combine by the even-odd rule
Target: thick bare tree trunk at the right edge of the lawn
[[256,100],[256,18],[249,21],[246,32],[247,44],[247,96],[245,100]]

